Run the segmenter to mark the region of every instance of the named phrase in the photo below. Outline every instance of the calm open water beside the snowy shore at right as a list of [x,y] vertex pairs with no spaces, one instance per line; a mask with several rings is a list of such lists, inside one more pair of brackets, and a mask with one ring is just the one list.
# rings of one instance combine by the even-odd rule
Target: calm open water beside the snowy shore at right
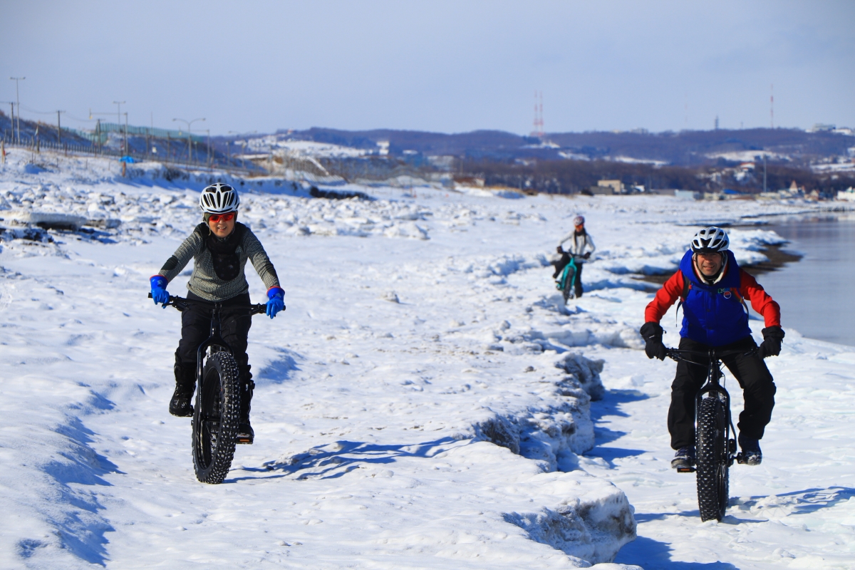
[[781,326],[805,337],[855,346],[855,216],[767,227],[790,240],[785,250],[804,255],[758,276],[781,305]]

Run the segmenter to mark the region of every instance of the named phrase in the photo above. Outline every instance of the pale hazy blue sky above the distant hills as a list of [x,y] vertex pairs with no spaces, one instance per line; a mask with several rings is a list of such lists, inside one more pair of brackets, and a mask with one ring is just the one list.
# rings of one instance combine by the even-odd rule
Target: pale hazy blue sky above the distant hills
[[126,101],[214,134],[528,133],[538,90],[547,132],[678,131],[769,126],[774,85],[775,126],[855,126],[853,25],[850,1],[3,0],[0,102],[26,76],[22,116],[68,126]]

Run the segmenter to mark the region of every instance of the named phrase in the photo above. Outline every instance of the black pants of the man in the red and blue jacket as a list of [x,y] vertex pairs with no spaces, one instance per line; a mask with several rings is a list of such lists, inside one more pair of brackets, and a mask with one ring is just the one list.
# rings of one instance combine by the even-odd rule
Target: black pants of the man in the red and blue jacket
[[[717,350],[752,350],[757,344],[751,337],[746,337],[732,344],[716,347]],[[710,350],[706,344],[697,343],[689,338],[681,338],[682,350]],[[671,434],[671,447],[679,450],[687,445],[694,445],[695,396],[706,381],[706,370],[709,359],[705,356],[693,356],[693,361],[702,363],[691,364],[685,361],[677,362],[677,373],[674,384],[671,385],[671,407],[668,410],[668,431]],[[744,356],[741,354],[723,358],[722,362],[739,382],[745,397],[745,409],[740,414],[737,427],[740,434],[752,438],[763,438],[763,432],[769,420],[772,419],[772,408],[775,407],[775,382],[763,359],[756,354]]]

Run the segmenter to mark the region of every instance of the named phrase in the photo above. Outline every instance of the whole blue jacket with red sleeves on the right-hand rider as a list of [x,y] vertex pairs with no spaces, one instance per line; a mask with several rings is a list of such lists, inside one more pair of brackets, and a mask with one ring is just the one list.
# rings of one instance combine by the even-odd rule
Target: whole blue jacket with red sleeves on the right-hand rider
[[658,323],[681,298],[683,327],[680,336],[709,346],[723,346],[751,335],[744,301],[747,299],[752,308],[763,315],[766,326],[781,326],[778,303],[769,297],[757,279],[740,269],[731,251],[728,250],[727,255],[722,279],[715,285],[707,285],[694,267],[692,251],[687,251],[680,261],[680,271],[665,282],[647,305],[645,321]]

